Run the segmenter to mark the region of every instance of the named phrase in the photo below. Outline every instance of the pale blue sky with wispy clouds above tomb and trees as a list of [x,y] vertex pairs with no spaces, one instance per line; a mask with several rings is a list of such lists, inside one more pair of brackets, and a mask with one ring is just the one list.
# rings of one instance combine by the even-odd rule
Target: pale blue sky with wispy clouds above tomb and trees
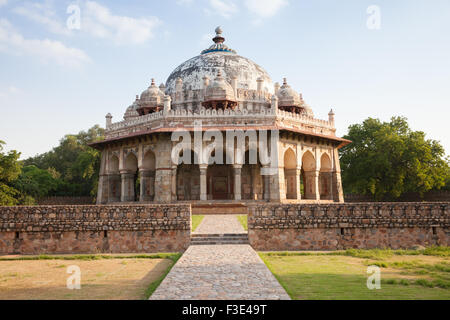
[[404,116],[450,154],[448,0],[0,0],[0,140],[25,159],[121,121],[217,26],[339,136]]

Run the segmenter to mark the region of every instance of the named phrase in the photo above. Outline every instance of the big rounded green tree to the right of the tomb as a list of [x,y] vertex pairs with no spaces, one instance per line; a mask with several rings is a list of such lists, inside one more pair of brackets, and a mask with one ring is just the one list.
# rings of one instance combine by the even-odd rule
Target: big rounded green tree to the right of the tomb
[[369,118],[349,127],[341,149],[346,192],[396,199],[407,192],[441,189],[449,180],[449,160],[438,141],[412,131],[406,118],[390,122]]

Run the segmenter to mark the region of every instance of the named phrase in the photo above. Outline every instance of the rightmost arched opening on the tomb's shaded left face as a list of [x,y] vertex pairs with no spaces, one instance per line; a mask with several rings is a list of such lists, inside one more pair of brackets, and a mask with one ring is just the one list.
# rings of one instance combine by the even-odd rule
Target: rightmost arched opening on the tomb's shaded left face
[[151,150],[147,151],[142,159],[142,167],[139,169],[140,201],[155,200],[155,172],[156,156]]

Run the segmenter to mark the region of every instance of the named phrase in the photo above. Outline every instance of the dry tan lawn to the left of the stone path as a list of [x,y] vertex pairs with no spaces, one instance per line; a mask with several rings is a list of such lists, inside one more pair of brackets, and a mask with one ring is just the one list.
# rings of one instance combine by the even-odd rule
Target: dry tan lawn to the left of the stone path
[[[0,300],[148,299],[180,257],[180,253],[1,257]],[[66,287],[69,265],[81,269],[81,290]]]

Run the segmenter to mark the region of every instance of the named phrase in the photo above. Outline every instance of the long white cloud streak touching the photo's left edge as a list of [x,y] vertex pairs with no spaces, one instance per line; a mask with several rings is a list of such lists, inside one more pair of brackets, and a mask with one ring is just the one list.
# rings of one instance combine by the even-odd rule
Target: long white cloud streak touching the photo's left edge
[[66,47],[59,41],[26,39],[6,19],[0,19],[0,51],[37,57],[65,67],[80,67],[91,61],[84,51]]

